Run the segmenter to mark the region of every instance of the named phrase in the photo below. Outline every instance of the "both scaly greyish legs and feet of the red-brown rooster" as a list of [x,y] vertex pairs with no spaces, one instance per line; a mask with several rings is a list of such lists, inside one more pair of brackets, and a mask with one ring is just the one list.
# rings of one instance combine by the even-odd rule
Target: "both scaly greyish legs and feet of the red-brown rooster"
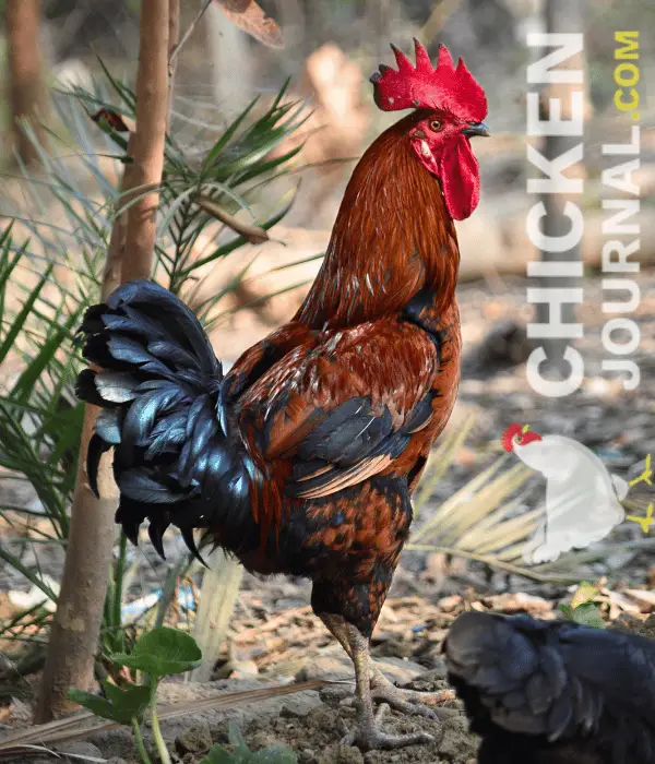
[[347,623],[340,616],[322,613],[321,620],[338,640],[355,666],[357,728],[346,736],[344,744],[356,744],[365,751],[370,751],[431,742],[432,737],[427,732],[396,736],[381,731],[380,721],[388,706],[382,705],[378,714],[374,715],[373,696],[374,700],[384,701],[384,703],[389,703],[394,708],[407,714],[421,714],[429,716],[429,718],[437,718],[437,715],[427,706],[424,706],[426,713],[418,711],[421,706],[402,697],[403,691],[391,684],[378,669],[371,666],[369,641],[354,625]]

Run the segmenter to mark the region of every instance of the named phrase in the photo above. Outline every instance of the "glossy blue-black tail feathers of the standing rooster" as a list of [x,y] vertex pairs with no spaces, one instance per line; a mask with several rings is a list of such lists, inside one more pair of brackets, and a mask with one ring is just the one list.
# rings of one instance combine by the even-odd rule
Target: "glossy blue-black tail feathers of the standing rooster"
[[116,520],[128,536],[135,541],[147,517],[163,554],[162,535],[172,523],[198,553],[192,529],[219,523],[226,512],[238,535],[259,476],[230,432],[221,362],[195,315],[167,289],[138,280],[90,308],[80,331],[84,357],[106,369],[78,379],[78,396],[103,407],[88,481],[97,493],[100,456],[114,447]]

